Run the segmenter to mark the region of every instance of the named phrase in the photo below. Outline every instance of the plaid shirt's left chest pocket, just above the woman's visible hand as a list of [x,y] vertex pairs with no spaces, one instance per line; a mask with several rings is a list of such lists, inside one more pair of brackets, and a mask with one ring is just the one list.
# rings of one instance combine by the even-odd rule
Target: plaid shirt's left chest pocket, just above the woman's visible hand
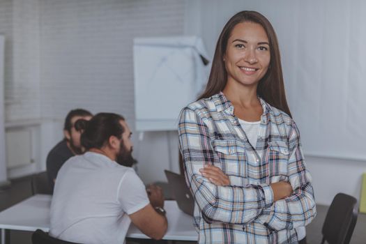
[[237,140],[213,140],[215,150],[221,162],[222,171],[227,176],[246,176],[245,148],[242,142]]

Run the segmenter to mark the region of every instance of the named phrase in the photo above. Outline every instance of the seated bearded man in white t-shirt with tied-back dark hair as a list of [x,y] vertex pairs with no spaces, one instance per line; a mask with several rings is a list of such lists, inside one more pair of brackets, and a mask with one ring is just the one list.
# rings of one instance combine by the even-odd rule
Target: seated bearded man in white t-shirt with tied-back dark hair
[[147,195],[130,167],[132,133],[123,117],[102,113],[77,126],[84,130],[87,152],[66,161],[57,175],[49,235],[75,243],[121,244],[132,221],[147,236],[162,238],[167,230],[162,190],[150,186]]

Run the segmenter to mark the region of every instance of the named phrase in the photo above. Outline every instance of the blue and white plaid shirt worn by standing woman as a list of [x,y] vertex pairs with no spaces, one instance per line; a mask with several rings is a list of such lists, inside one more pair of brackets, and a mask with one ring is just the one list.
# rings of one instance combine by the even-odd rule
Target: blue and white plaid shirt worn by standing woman
[[[259,99],[264,113],[256,148],[223,93],[181,112],[179,146],[195,196],[199,243],[297,243],[294,228],[316,215],[298,128],[287,114]],[[217,186],[201,176],[206,164],[222,169],[231,185]],[[289,181],[293,193],[274,202],[270,183],[278,181]]]

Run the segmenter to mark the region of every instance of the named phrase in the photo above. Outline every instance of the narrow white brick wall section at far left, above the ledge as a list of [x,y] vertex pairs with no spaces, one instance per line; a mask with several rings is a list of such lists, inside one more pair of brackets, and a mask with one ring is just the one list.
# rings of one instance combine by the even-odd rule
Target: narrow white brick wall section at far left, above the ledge
[[[6,36],[6,122],[40,118],[38,0],[1,1]],[[1,13],[2,14],[2,13]]]

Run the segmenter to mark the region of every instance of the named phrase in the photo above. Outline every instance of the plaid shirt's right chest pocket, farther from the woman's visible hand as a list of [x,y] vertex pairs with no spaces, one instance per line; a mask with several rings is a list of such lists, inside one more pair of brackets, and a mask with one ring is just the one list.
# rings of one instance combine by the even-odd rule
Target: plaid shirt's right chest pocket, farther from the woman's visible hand
[[[289,144],[287,142],[268,142],[267,156],[270,176],[288,176]],[[283,179],[283,177],[279,178],[279,180]]]

